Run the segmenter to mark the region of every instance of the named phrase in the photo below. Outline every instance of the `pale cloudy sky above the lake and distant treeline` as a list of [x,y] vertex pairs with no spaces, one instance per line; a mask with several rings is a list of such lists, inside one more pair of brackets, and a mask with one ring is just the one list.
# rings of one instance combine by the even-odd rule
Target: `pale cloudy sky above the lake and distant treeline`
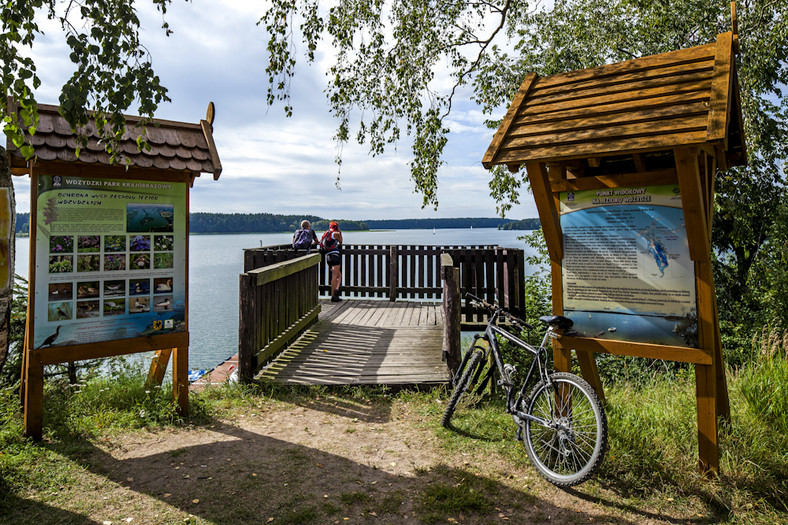
[[[172,102],[156,118],[197,123],[208,103],[216,106],[214,140],[223,171],[218,181],[203,174],[190,194],[192,212],[309,214],[334,219],[494,217],[489,172],[481,159],[494,130],[468,94],[455,102],[445,165],[439,172],[439,207],[422,208],[413,191],[405,138],[386,154],[372,157],[355,142],[343,148],[341,189],[337,189],[336,121],[323,90],[329,61],[300,67],[293,80],[293,116],[281,105],[266,105],[268,63],[264,26],[257,21],[266,3],[249,0],[174,1],[165,15],[174,33],[165,37],[162,17],[150,2],[138,2],[142,41]],[[56,23],[42,24],[32,54],[42,86],[39,103],[57,104],[73,68]],[[506,108],[501,108],[500,118]],[[17,210],[29,211],[29,181],[15,177]],[[533,198],[507,213],[536,217]]]

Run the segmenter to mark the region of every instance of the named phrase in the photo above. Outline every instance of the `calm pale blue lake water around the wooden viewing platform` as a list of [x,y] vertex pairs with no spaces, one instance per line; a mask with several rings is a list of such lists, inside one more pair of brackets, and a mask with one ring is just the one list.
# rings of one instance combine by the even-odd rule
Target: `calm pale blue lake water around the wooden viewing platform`
[[[494,228],[345,232],[348,244],[479,245],[525,248],[529,232]],[[292,233],[189,237],[189,368],[213,368],[238,352],[238,275],[243,249],[288,244]],[[16,273],[27,277],[29,239],[16,242]]]

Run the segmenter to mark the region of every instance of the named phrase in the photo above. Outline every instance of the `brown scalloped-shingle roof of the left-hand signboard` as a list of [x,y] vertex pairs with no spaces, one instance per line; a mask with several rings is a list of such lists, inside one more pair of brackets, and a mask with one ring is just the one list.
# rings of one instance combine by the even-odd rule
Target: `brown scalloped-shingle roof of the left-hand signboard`
[[[209,114],[212,113],[210,106]],[[80,130],[88,137],[87,147],[75,154],[77,134],[58,113],[57,106],[39,104],[39,122],[35,135],[28,136],[39,161],[79,162],[82,164],[110,165],[110,155],[99,143],[96,125],[91,121]],[[212,120],[212,115],[209,116]],[[152,120],[145,128],[139,117],[126,117],[126,132],[120,141],[120,165],[160,170],[188,171],[199,175],[212,173],[218,179],[222,164],[213,142],[213,126],[206,120],[199,124]],[[137,137],[144,134],[150,150],[137,149]],[[6,150],[12,166],[25,167],[19,150],[8,141]]]

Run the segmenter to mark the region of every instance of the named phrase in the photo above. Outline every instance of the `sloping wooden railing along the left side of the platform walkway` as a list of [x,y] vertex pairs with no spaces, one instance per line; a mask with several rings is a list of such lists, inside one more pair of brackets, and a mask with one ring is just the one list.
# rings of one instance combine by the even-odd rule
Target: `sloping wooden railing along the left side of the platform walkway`
[[254,377],[317,321],[320,259],[319,254],[296,254],[240,275],[238,372],[243,379]]

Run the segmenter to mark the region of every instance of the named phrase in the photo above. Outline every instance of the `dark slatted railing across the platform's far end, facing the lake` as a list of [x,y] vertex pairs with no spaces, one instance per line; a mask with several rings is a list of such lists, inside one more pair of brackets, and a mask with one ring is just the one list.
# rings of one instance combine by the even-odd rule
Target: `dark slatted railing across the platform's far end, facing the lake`
[[[244,250],[244,271],[265,267],[303,255],[289,245]],[[449,254],[459,268],[462,296],[471,292],[489,301],[496,300],[515,315],[525,312],[523,250],[487,246],[411,246],[345,244],[342,246],[342,295],[357,298],[388,298],[439,301],[441,254]],[[330,277],[324,262],[319,267],[323,296],[330,291]],[[462,310],[463,327],[483,323],[481,314]]]

